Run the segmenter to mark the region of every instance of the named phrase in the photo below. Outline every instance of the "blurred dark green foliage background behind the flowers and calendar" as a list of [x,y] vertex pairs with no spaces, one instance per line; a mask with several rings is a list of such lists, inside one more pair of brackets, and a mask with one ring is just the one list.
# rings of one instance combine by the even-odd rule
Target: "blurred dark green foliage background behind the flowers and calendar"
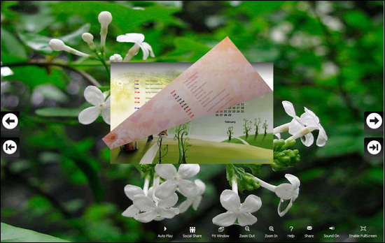
[[[363,131],[363,112],[384,110],[383,8],[383,1],[1,1],[1,73],[3,66],[13,71],[1,76],[1,110],[21,112],[21,156],[1,159],[1,222],[74,242],[156,240],[163,226],[174,234],[196,226],[202,241],[218,233],[211,219],[224,212],[223,165],[202,166],[198,177],[208,188],[197,212],[147,224],[120,216],[131,203],[123,187],[142,179],[131,165],[109,164],[102,118],[88,126],[77,119],[87,107],[82,72],[103,86],[109,78],[99,63],[48,47],[50,38],[64,38],[89,52],[80,36],[90,31],[98,43],[97,15],[109,10],[108,57],[124,57],[132,46],[116,42],[125,33],[146,36],[156,56],[147,61],[197,61],[229,36],[248,61],[274,62],[274,126],[290,121],[283,100],[297,115],[306,106],[320,117],[325,147],[297,143],[301,161],[287,171],[262,166],[260,178],[272,184],[286,172],[299,177],[300,196],[280,218],[278,198],[254,191],[263,205],[249,241],[264,240],[269,226],[278,240],[287,240],[293,226],[299,241],[313,226],[314,242],[344,240],[367,226],[377,239],[360,241],[383,242],[383,159],[363,156],[366,136],[383,137]],[[48,65],[52,60],[63,66]],[[132,61],[142,61],[141,53]],[[245,232],[232,226],[227,233],[237,240]]]

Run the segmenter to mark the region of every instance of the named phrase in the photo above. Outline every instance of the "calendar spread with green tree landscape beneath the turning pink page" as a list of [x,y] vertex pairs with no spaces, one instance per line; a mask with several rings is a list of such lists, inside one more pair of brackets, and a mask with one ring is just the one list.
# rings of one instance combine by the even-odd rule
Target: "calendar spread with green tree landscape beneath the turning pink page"
[[[193,63],[113,64],[111,129],[140,110],[191,65]],[[251,65],[272,89],[273,64]],[[180,159],[186,163],[272,163],[272,108],[273,94],[269,93],[217,110],[169,128],[163,135],[155,133],[152,138],[123,146],[124,149],[111,149],[111,163],[179,163]],[[180,153],[181,147],[186,152]]]

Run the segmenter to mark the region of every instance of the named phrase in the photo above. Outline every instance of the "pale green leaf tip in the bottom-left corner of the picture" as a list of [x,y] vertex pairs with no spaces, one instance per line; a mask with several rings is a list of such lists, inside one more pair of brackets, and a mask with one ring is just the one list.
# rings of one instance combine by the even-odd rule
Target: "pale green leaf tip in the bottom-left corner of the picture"
[[69,242],[32,230],[17,228],[1,223],[1,242]]

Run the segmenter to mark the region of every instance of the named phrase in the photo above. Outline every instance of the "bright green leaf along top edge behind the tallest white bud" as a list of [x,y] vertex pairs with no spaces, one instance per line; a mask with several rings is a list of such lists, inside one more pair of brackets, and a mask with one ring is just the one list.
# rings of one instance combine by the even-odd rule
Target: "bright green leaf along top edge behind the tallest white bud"
[[76,3],[73,3],[73,1],[59,1],[59,3],[52,6],[52,12],[57,16],[71,13],[70,17],[82,17],[85,22],[92,23],[92,32],[100,31],[97,17],[102,11],[109,11],[113,17],[111,25],[118,27],[120,34],[125,34],[130,33],[134,28],[146,22],[163,20],[165,17],[176,13],[178,8],[150,6],[144,10],[138,10],[121,4],[101,1],[76,1]]

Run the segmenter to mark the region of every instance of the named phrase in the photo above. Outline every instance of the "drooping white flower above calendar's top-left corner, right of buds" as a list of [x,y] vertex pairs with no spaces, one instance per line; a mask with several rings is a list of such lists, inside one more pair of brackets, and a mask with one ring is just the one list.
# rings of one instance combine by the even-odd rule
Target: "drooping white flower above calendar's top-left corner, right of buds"
[[118,36],[116,38],[118,42],[130,42],[135,43],[134,46],[127,52],[125,59],[123,61],[130,61],[139,52],[139,48],[143,51],[143,59],[148,58],[148,54],[151,57],[155,57],[153,48],[148,43],[144,42],[144,34],[140,33],[129,33],[125,35]]

